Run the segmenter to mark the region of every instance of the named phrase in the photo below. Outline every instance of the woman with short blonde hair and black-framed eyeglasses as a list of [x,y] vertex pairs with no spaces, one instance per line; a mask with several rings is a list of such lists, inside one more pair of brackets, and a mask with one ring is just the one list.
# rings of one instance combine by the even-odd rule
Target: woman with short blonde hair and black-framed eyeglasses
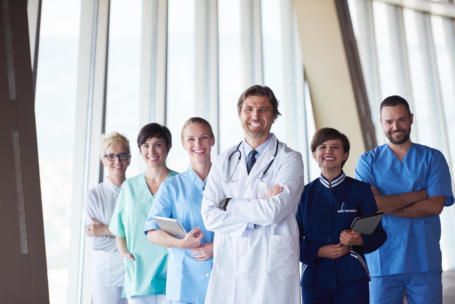
[[125,136],[112,132],[101,139],[101,162],[107,169],[106,179],[84,196],[86,235],[92,244],[92,303],[124,304],[121,298],[124,267],[116,247],[115,236],[108,226],[130,164],[130,144]]

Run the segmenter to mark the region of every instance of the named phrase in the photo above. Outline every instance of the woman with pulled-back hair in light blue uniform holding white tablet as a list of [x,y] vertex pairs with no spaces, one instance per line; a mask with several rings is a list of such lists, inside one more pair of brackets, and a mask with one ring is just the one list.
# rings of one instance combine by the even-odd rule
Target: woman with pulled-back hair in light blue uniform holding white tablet
[[[190,157],[188,170],[163,181],[148,214],[144,231],[150,242],[169,248],[166,299],[172,304],[203,304],[213,264],[213,236],[202,222],[201,203],[215,144],[207,120],[194,117],[182,128],[182,145]],[[179,240],[152,216],[177,219],[187,236]]]

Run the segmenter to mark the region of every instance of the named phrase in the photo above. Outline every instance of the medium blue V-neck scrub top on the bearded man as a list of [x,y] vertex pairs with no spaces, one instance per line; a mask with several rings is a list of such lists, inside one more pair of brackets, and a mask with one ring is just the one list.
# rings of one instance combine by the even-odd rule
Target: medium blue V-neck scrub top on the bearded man
[[[357,162],[355,178],[370,183],[381,195],[425,189],[429,197],[447,196],[445,206],[454,203],[444,155],[421,144],[412,144],[401,162],[388,144],[365,152]],[[375,252],[365,255],[372,277],[442,271],[439,216],[385,215],[381,222],[387,232],[387,241]]]

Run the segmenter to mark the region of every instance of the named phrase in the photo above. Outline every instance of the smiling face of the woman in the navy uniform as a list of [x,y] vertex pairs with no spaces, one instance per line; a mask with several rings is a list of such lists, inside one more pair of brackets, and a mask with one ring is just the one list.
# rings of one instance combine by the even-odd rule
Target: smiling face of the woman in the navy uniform
[[341,139],[329,139],[316,147],[313,158],[321,169],[341,169],[343,161],[348,159],[348,153],[344,153]]

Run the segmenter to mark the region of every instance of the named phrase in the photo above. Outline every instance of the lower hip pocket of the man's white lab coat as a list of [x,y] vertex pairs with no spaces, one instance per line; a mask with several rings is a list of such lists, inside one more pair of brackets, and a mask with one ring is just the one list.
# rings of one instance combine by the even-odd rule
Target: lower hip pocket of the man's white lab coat
[[267,271],[277,274],[298,273],[297,237],[269,235]]

